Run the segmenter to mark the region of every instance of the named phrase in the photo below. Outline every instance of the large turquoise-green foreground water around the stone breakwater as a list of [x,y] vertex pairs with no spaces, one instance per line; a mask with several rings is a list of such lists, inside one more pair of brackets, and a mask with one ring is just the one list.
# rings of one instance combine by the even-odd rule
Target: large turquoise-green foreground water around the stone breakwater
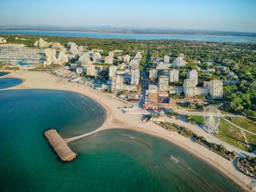
[[148,134],[112,129],[70,142],[62,163],[43,137],[62,137],[104,123],[96,101],[69,91],[0,91],[1,191],[239,191],[180,147]]

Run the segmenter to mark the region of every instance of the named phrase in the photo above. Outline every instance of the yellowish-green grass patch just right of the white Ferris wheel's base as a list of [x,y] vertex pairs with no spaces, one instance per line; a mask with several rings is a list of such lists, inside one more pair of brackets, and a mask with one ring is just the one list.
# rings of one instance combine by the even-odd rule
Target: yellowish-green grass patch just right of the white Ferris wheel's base
[[241,131],[223,119],[220,120],[219,132],[214,133],[214,136],[242,150],[249,150]]

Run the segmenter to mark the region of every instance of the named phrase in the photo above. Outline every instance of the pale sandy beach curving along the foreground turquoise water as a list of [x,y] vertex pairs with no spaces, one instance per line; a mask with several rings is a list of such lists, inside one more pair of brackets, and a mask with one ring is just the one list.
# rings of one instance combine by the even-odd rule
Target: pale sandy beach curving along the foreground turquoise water
[[[102,107],[105,107],[107,112],[107,118],[104,125],[100,129],[106,130],[110,128],[129,128],[134,131],[141,131],[146,134],[154,135],[172,142],[179,147],[184,148],[192,155],[200,158],[202,161],[211,165],[219,172],[225,175],[225,177],[233,180],[234,183],[239,185],[244,191],[256,191],[256,180],[252,180],[250,177],[238,172],[233,166],[232,162],[227,161],[225,158],[217,155],[211,150],[206,149],[202,145],[198,145],[192,142],[186,137],[182,137],[176,132],[170,132],[164,128],[157,126],[152,122],[142,123],[138,114],[124,114],[118,107],[128,106],[122,101],[118,101],[113,98],[113,94],[102,93],[92,88],[86,88],[83,85],[78,85],[75,82],[65,82],[61,77],[55,77],[46,72],[29,72],[27,70],[21,70],[18,72],[12,72],[4,77],[17,77],[23,80],[23,83],[8,89],[51,89],[62,91],[73,91],[76,93],[89,96],[94,99]],[[253,183],[254,182],[254,183]]]

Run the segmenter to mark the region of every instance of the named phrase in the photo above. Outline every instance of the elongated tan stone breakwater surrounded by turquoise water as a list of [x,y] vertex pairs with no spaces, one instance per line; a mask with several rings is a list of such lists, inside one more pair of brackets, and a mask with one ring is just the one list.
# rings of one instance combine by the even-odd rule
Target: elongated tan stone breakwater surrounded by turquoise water
[[78,156],[77,153],[67,146],[67,143],[64,142],[64,139],[58,134],[56,129],[45,131],[45,137],[62,161],[73,161]]

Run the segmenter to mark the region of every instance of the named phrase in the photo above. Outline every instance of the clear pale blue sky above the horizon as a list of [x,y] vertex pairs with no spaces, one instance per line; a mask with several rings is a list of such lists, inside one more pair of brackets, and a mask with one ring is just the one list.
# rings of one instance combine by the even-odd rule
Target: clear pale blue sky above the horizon
[[10,24],[256,32],[256,0],[0,0],[0,25]]

